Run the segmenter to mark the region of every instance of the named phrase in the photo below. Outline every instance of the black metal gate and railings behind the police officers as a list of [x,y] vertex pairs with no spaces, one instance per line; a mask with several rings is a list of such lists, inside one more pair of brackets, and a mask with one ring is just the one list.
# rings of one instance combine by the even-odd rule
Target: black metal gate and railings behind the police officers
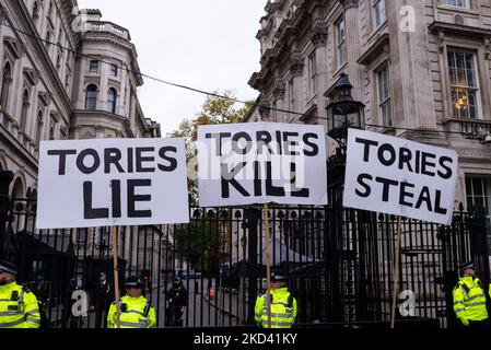
[[[17,280],[44,300],[51,327],[103,327],[95,282],[113,280],[110,228],[36,230],[36,198],[11,198],[0,174],[0,259],[19,264]],[[271,265],[289,273],[299,327],[369,327],[390,318],[396,218],[344,209],[340,192],[324,208],[272,207]],[[254,325],[266,283],[265,221],[259,208],[189,208],[186,225],[119,228],[119,273],[138,275],[165,326],[165,291],[178,275],[188,291],[185,327]],[[404,220],[399,291],[414,296],[401,320],[454,327],[456,267],[474,260],[489,283],[486,218],[460,210],[452,226]],[[42,277],[43,279],[40,279]],[[39,282],[44,280],[44,282]],[[86,292],[86,315],[70,312]],[[405,299],[399,302],[404,302]],[[410,308],[411,310],[411,308]]]

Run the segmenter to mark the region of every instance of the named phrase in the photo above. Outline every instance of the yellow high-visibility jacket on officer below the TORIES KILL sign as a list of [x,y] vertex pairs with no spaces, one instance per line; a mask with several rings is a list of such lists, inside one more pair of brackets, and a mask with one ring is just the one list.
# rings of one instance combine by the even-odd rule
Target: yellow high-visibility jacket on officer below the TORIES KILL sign
[[262,328],[269,328],[268,303],[271,303],[271,328],[291,328],[296,318],[296,300],[288,288],[273,289],[270,295],[266,293],[257,298],[255,319]]

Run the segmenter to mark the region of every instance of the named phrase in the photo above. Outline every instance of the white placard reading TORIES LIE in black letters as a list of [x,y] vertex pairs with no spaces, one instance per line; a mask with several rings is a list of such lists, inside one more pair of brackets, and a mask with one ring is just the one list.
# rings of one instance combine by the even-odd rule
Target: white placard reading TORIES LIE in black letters
[[183,139],[42,142],[37,229],[187,222]]

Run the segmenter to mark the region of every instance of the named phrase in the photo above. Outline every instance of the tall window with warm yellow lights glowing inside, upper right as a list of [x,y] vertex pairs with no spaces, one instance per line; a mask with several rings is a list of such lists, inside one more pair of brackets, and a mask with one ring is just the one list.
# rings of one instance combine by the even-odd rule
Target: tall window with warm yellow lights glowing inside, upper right
[[476,75],[476,55],[448,51],[448,75],[455,118],[479,118],[479,85]]

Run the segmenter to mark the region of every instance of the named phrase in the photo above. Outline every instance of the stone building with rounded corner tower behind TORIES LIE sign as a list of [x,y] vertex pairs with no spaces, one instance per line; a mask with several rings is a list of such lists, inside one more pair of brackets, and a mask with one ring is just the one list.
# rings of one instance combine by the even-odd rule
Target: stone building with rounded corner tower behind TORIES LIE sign
[[[14,173],[13,198],[36,198],[43,140],[161,137],[138,101],[143,79],[128,30],[98,10],[79,12],[77,0],[0,0],[0,171]],[[16,232],[36,232],[26,213]],[[137,242],[139,228],[126,229]],[[77,230],[73,241],[84,256],[78,272],[87,256],[110,260],[107,229]],[[136,250],[120,244],[124,258]],[[149,254],[152,264],[160,256]],[[130,271],[147,266],[128,262]]]

